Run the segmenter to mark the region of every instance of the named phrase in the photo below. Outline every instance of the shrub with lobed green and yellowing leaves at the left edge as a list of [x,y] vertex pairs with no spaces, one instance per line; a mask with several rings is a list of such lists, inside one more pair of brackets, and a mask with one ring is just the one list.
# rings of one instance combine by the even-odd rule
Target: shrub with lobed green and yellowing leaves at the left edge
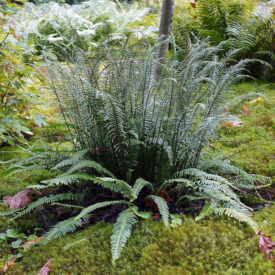
[[9,37],[20,38],[7,6],[17,7],[9,1],[0,5],[0,144],[28,144],[26,137],[33,135],[28,128],[29,121],[40,126],[46,123],[39,112],[35,112],[37,115],[30,112],[33,99],[39,97],[36,88],[31,86],[34,70],[21,62],[21,47],[9,43]]

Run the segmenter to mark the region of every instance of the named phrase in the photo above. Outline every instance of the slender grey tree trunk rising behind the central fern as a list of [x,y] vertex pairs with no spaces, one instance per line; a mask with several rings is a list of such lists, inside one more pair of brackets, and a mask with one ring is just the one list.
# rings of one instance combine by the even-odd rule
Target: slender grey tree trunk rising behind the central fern
[[[163,0],[162,12],[160,18],[160,28],[158,31],[158,37],[162,37],[162,41],[167,40],[170,36],[170,30],[172,26],[173,12],[174,12],[174,0]],[[162,60],[165,55],[165,51],[169,49],[169,42],[166,41],[165,45],[160,47],[157,51],[156,58]],[[157,80],[160,74],[160,69],[156,65],[154,71],[154,80]]]

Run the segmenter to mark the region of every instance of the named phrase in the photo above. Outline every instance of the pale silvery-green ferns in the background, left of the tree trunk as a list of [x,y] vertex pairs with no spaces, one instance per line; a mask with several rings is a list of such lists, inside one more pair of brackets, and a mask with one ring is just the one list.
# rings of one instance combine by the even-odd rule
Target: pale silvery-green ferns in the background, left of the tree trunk
[[[135,33],[135,39],[143,34],[152,34],[158,28],[157,20],[146,21],[143,18],[149,13],[148,8],[138,7],[137,4],[124,7],[119,1],[101,0],[84,1],[74,5],[66,3],[48,2],[42,4],[25,3],[16,17],[19,31],[23,40],[20,45],[26,49],[25,57],[32,54],[40,55],[42,46],[62,55],[63,46],[70,47],[71,29],[75,29],[90,49],[96,47],[95,42],[102,41],[102,21],[109,22],[113,39],[126,37]],[[16,41],[14,41],[16,42]]]

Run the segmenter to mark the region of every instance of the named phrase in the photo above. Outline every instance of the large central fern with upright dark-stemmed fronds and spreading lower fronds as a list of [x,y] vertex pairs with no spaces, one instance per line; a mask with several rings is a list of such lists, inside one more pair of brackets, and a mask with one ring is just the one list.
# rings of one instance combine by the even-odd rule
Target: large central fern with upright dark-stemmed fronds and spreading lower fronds
[[[126,38],[118,46],[109,25],[104,26],[105,40],[95,52],[85,47],[76,32],[72,32],[72,48],[64,48],[62,63],[44,50],[45,81],[68,127],[66,150],[61,145],[57,150],[47,146],[25,149],[29,156],[10,161],[3,172],[46,169],[52,178],[29,188],[65,189],[70,193],[62,196],[75,196],[72,199],[81,206],[75,207],[78,215],[52,227],[45,241],[74,231],[99,208],[120,205],[111,237],[114,261],[133,225],[150,217],[144,199],[154,202],[153,210],[160,212],[166,226],[182,223],[177,215],[169,216],[169,205],[162,196],[165,190],[175,205],[203,200],[197,220],[225,214],[258,231],[243,197],[260,197],[257,189],[270,179],[247,174],[226,156],[214,156],[210,145],[218,139],[219,128],[239,121],[235,115],[239,106],[253,97],[266,98],[259,87],[229,99],[232,85],[247,76],[245,66],[254,60],[230,65],[238,50],[224,52],[225,42],[209,46],[209,38],[185,36],[185,47],[177,50],[171,36],[171,50],[160,62],[156,53],[164,45],[162,39],[152,45],[147,38],[138,43]],[[79,189],[81,198],[76,195]],[[105,199],[97,197],[96,203],[83,209],[85,198],[102,192]],[[50,203],[61,203],[57,196]],[[71,207],[71,203],[63,205]],[[32,209],[33,205],[27,205],[2,215],[16,218]]]

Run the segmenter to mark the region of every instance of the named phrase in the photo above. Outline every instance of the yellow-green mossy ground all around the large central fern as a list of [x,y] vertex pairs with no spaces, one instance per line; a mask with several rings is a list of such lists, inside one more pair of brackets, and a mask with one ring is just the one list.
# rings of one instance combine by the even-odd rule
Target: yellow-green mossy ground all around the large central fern
[[[237,94],[250,92],[256,85],[254,82],[241,83],[234,87],[234,91]],[[268,96],[270,102],[275,103],[274,88],[267,87],[264,91],[270,94]],[[247,103],[247,106],[251,115],[247,116],[244,113],[239,115],[244,126],[223,128],[220,136],[225,140],[252,144],[275,136],[275,106],[264,100]],[[213,147],[227,156],[243,149],[243,146],[231,143],[213,144]],[[272,142],[264,143],[261,147],[271,154],[275,152],[275,145]],[[14,148],[9,147],[1,151],[12,150]],[[15,154],[0,153],[1,160],[13,157]],[[274,178],[275,161],[261,150],[245,150],[234,155],[231,160],[249,173]],[[3,169],[3,166],[0,169]],[[21,182],[16,184],[2,180],[0,195],[3,197],[15,194],[30,182],[35,184],[45,176],[45,174],[22,174]],[[275,238],[274,214],[275,208],[264,209],[263,212],[256,213],[254,219],[260,225],[266,220],[267,224],[262,230],[266,235]],[[26,218],[17,221],[16,224],[9,223],[3,217],[0,218],[1,229],[17,227],[19,230],[26,230],[27,226]],[[254,237],[251,242],[251,239],[243,240],[251,234],[252,230],[246,225],[227,217],[211,217],[195,222],[194,217],[183,216],[183,224],[176,229],[166,228],[162,222],[150,221],[148,225],[140,224],[135,227],[120,259],[113,265],[109,248],[111,225],[99,223],[47,245],[31,247],[25,252],[21,262],[12,266],[7,274],[38,274],[49,259],[52,259],[49,275],[275,274],[275,262],[266,260],[260,253],[259,237]],[[63,249],[68,241],[81,236],[87,239],[71,246],[68,250]],[[2,269],[7,263],[7,248],[4,243],[0,246],[0,252],[2,256],[0,269]],[[232,266],[239,254],[239,258]]]

